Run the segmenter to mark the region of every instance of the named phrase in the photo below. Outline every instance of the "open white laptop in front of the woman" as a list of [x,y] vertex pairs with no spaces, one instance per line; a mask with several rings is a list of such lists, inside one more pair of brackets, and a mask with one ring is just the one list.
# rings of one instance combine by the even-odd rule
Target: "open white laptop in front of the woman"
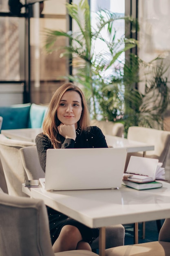
[[[114,189],[121,186],[126,148],[48,149],[44,189]],[[41,184],[44,180],[40,179]]]

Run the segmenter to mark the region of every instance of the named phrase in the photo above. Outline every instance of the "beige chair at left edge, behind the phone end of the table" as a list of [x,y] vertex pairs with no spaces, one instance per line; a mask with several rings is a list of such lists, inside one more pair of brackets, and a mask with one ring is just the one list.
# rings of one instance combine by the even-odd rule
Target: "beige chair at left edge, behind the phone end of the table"
[[26,196],[22,192],[22,183],[28,177],[20,156],[20,148],[26,146],[35,146],[35,143],[9,139],[3,134],[0,134],[0,161],[9,195]]

